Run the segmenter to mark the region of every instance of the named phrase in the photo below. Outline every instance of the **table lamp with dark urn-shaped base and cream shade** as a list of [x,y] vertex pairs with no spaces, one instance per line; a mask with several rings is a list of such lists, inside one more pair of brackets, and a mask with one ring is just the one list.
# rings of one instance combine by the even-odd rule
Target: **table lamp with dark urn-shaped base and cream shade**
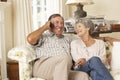
[[87,16],[87,12],[83,10],[84,5],[93,4],[92,0],[67,0],[67,5],[75,5],[77,10],[74,12],[74,18],[83,18]]

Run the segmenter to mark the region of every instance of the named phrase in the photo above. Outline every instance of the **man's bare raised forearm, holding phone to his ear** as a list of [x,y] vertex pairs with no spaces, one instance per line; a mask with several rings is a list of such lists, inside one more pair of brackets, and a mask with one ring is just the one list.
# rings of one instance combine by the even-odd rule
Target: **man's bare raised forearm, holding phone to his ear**
[[42,33],[46,30],[48,30],[50,27],[50,21],[46,22],[45,25],[37,29],[36,31],[33,31],[27,36],[27,41],[31,44],[34,45],[38,42],[39,38],[41,37]]

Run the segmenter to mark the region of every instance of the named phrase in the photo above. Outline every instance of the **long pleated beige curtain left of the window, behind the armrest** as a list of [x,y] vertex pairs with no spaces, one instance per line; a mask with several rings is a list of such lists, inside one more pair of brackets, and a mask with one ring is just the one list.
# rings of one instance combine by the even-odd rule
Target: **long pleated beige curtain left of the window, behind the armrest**
[[13,1],[14,46],[27,44],[32,29],[32,0]]

